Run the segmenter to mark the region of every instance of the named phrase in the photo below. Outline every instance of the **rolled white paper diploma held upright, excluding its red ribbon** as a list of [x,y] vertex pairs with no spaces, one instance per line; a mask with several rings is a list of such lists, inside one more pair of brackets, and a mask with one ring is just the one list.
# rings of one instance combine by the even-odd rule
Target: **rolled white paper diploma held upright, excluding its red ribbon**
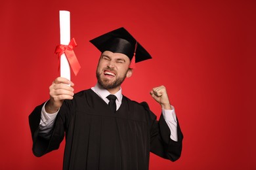
[[[70,43],[70,12],[60,10],[60,44]],[[60,76],[70,80],[70,64],[65,54],[60,56]]]

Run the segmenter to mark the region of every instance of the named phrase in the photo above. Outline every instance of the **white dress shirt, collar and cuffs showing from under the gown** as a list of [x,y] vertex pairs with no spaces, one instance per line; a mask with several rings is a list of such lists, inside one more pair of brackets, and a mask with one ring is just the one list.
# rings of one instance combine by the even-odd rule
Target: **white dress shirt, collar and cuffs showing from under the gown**
[[[108,95],[110,95],[110,92],[108,92],[108,90],[102,88],[99,84],[96,84],[95,87],[92,87],[91,90],[93,90],[93,92],[95,92],[98,96],[100,96],[107,104],[109,102],[109,100],[106,98]],[[115,93],[114,95],[116,95],[117,99],[116,99],[116,110],[119,109],[119,107],[121,106],[121,101],[123,98],[123,95],[121,93],[121,88],[120,90]],[[45,102],[46,104],[47,102]],[[175,114],[175,109],[173,106],[171,106],[172,109],[171,110],[165,110],[162,109],[162,114],[163,114],[163,118],[165,120],[165,122],[167,123],[167,126],[169,127],[170,131],[171,131],[171,139],[173,141],[178,141],[178,136],[177,136],[177,118],[176,118],[176,114]],[[53,113],[53,114],[49,114],[45,111],[45,105],[43,105],[43,108],[41,110],[41,121],[39,124],[39,134],[43,137],[50,137],[49,131],[51,131],[53,129],[53,125],[54,125],[54,120],[56,118],[58,114],[58,111]]]

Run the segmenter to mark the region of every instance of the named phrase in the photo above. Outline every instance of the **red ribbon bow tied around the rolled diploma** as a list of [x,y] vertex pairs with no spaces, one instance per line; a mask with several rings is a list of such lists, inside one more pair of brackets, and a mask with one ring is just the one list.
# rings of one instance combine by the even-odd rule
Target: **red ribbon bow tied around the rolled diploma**
[[75,56],[75,52],[73,48],[77,46],[75,39],[73,38],[68,45],[58,45],[55,49],[55,54],[58,54],[58,69],[60,69],[60,56],[62,54],[66,54],[66,58],[68,59],[68,63],[70,63],[70,67],[72,68],[75,76],[81,69],[81,66]]

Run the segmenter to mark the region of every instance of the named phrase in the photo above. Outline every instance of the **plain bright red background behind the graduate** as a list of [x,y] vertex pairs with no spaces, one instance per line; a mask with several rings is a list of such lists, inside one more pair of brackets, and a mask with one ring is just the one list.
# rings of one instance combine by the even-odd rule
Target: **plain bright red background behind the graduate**
[[[150,155],[150,169],[255,169],[256,1],[1,1],[0,169],[61,169],[64,143],[32,154],[28,115],[58,76],[58,10],[70,10],[81,71],[75,92],[96,83],[100,52],[89,40],[125,27],[152,54],[123,93],[147,101],[164,84],[184,133],[180,160]],[[254,158],[254,159],[253,159]]]

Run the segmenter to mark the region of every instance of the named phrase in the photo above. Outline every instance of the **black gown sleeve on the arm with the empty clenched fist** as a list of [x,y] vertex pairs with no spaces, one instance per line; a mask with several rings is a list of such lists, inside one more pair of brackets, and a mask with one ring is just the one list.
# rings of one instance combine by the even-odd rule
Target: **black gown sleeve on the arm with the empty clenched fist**
[[163,115],[160,120],[156,120],[156,115],[149,109],[146,102],[141,103],[146,110],[150,126],[150,152],[165,158],[167,160],[176,161],[181,157],[183,135],[179,121],[177,120],[177,135],[178,141],[173,141],[170,138],[171,131],[166,124]]

